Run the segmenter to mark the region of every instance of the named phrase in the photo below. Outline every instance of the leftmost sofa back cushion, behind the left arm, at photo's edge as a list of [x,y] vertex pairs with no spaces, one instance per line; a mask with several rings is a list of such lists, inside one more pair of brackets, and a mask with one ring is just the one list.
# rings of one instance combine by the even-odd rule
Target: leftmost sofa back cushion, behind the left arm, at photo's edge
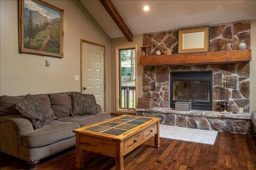
[[0,115],[7,116],[12,114],[20,114],[14,105],[14,103],[20,98],[21,97],[18,96],[0,96]]

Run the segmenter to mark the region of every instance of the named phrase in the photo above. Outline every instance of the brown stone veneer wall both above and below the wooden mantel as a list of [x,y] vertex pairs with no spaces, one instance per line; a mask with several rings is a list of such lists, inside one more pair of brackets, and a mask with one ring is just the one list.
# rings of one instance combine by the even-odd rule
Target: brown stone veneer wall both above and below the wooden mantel
[[[209,26],[209,51],[220,50],[220,43],[227,42],[226,50],[237,50],[241,40],[245,41],[250,48],[250,22],[235,22]],[[151,55],[156,49],[173,48],[172,53],[177,53],[178,29],[158,33],[144,33],[143,45],[151,45]],[[245,63],[221,63],[207,65],[175,65],[175,66],[144,66],[143,72],[143,96],[154,97],[156,107],[170,107],[169,74],[170,71],[201,71],[212,70],[213,72],[213,111],[223,111],[218,101],[221,101],[221,77],[228,76],[229,101],[231,107],[228,111],[238,112],[239,107],[243,112],[249,112],[250,97],[250,65]],[[180,118],[181,119],[181,118]],[[196,126],[196,121],[190,122]],[[204,125],[209,122],[203,120]]]

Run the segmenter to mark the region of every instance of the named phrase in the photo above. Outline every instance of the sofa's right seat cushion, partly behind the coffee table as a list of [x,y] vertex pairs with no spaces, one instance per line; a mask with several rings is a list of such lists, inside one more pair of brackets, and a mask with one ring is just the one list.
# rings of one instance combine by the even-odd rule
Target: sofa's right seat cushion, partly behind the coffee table
[[101,112],[92,116],[77,116],[77,117],[63,117],[59,118],[58,121],[63,122],[77,122],[81,127],[91,125],[100,121],[104,121],[111,118],[108,112]]

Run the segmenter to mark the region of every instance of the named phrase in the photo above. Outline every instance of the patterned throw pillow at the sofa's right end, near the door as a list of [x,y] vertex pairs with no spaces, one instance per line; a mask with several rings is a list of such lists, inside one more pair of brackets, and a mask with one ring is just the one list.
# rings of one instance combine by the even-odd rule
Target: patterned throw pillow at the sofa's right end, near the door
[[72,92],[72,116],[89,116],[97,114],[96,100],[94,95]]

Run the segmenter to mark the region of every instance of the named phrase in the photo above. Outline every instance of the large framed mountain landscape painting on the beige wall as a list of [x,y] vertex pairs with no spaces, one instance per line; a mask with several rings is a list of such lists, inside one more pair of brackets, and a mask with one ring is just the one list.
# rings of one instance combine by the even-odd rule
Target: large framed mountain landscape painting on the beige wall
[[63,56],[63,12],[39,0],[19,1],[19,52]]

